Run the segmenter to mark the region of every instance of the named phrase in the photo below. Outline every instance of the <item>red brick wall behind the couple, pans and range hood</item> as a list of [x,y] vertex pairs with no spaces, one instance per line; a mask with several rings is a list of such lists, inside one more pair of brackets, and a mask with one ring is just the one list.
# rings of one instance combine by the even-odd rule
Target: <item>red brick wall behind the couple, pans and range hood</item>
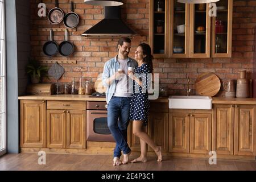
[[[37,16],[39,1],[31,1],[31,56],[37,59],[48,59],[42,52],[43,44],[49,39],[49,32],[39,32],[38,28],[64,27],[63,24],[52,25],[47,18]],[[69,12],[71,0],[59,0],[59,7],[65,13]],[[54,0],[44,0],[47,9],[55,7]],[[59,54],[52,59],[77,60],[77,64],[63,64],[65,73],[59,81],[69,82],[74,77],[84,76],[95,81],[102,72],[105,61],[117,54],[118,39],[86,39],[82,32],[88,30],[103,18],[102,6],[85,5],[84,0],[73,0],[75,12],[80,16],[77,31],[69,35],[69,40],[75,44],[75,53],[71,57]],[[130,56],[133,57],[136,46],[141,42],[148,43],[148,0],[125,0],[122,6],[122,18],[140,36],[132,42]],[[155,59],[155,73],[160,73],[160,84],[167,87],[169,94],[185,94],[187,80],[191,78],[192,94],[195,94],[194,83],[202,72],[215,72],[221,81],[237,79],[239,70],[246,69],[247,78],[251,78],[254,63],[254,27],[256,26],[256,1],[236,1],[233,3],[233,47],[232,58],[216,59]],[[64,40],[64,32],[55,32],[55,40],[60,43]],[[44,81],[48,81],[44,79]],[[56,82],[56,80],[50,80]]]

